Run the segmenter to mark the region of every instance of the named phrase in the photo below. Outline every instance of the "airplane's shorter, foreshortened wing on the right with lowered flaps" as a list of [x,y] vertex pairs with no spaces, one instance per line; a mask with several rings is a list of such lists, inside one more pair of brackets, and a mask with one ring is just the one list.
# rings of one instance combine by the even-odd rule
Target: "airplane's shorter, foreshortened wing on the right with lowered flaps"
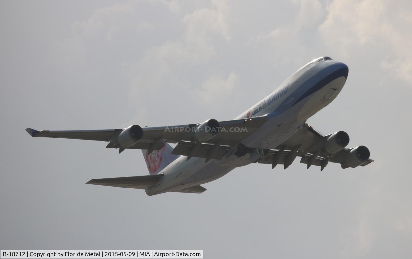
[[[278,147],[267,150],[258,163],[272,164],[272,168],[278,164],[283,164],[286,169],[296,156],[299,156],[301,157],[300,163],[307,164],[307,168],[314,165],[320,166],[321,170],[323,170],[329,162],[339,163],[342,168],[354,168],[356,166],[366,166],[374,161],[369,158],[369,150],[367,151],[367,157],[361,157],[361,155],[358,154],[359,152],[356,152],[357,148],[366,152],[365,149],[367,148],[363,146],[353,148],[345,147],[338,152],[328,152],[324,148],[328,136],[330,135],[325,136],[309,124],[304,124],[299,131]],[[348,157],[351,158],[350,161]]]

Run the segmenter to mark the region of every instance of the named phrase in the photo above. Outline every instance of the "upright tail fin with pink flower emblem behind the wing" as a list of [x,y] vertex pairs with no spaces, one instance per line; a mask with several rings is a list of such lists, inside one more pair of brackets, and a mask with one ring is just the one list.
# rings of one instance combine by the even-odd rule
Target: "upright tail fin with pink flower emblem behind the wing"
[[147,169],[149,169],[150,175],[156,175],[163,170],[171,162],[175,161],[179,155],[172,154],[173,147],[165,143],[160,150],[153,150],[148,154],[148,151],[142,149],[143,156],[145,157]]

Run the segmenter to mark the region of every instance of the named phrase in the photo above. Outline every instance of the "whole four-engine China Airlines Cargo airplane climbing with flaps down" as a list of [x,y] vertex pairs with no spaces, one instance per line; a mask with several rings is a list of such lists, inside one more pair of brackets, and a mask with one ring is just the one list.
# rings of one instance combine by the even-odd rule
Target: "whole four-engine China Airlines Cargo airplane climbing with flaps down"
[[[107,147],[142,149],[150,175],[93,179],[88,184],[145,189],[151,196],[168,191],[202,193],[211,182],[236,167],[267,163],[286,169],[300,162],[325,168],[366,166],[369,149],[346,148],[344,131],[323,135],[306,120],[328,105],[342,90],[348,67],[329,57],[316,58],[297,70],[274,92],[232,121],[208,119],[199,124],[166,127],[132,125],[124,129],[36,131],[32,137],[107,141]],[[177,143],[171,147],[169,143]]]

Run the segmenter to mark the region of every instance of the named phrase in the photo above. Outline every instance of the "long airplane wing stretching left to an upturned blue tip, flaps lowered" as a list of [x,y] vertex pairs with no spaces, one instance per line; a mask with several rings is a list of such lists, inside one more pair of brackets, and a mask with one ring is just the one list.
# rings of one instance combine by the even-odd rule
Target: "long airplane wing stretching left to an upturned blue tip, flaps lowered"
[[[162,127],[143,127],[143,135],[141,138],[133,142],[133,145],[127,147],[118,145],[119,136],[128,128],[104,129],[104,130],[76,130],[76,131],[36,131],[32,128],[26,128],[26,131],[32,137],[45,138],[70,138],[80,140],[100,140],[110,142],[106,147],[119,148],[119,152],[126,149],[149,149],[159,150],[165,142],[178,143],[178,147],[173,154],[183,155],[188,152],[190,145],[195,142],[201,142],[201,147],[197,152],[198,157],[206,156],[214,144],[218,149],[213,154],[213,159],[221,159],[223,152],[226,152],[228,147],[241,142],[248,135],[254,133],[267,121],[267,116],[253,117],[248,119],[238,119],[232,121],[219,121],[219,132],[211,139],[206,141],[194,140],[193,128],[197,128],[202,124],[185,124]],[[137,126],[137,125],[136,125]],[[131,126],[133,127],[133,126]],[[129,128],[131,128],[129,127]],[[140,128],[139,126],[137,126]],[[204,143],[209,145],[204,145]],[[193,151],[193,149],[192,149]],[[196,152],[194,152],[196,153]],[[202,153],[202,154],[200,154]]]

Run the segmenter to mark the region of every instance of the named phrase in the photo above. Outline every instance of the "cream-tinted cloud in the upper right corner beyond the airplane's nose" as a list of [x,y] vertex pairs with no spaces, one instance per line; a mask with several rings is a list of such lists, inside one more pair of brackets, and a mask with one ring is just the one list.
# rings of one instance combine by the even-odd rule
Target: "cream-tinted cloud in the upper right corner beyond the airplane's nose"
[[411,83],[411,11],[411,5],[400,1],[335,0],[319,32],[326,44],[346,56],[368,52],[379,57],[382,70]]

